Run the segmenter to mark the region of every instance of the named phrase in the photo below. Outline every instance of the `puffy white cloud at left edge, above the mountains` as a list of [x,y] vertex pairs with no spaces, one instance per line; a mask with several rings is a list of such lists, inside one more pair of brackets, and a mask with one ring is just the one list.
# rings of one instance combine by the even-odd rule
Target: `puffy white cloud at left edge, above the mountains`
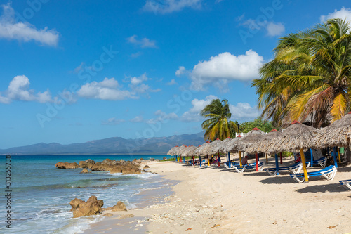
[[50,91],[34,93],[34,90],[29,89],[29,79],[25,75],[14,77],[8,89],[0,93],[0,103],[11,103],[13,100],[36,101],[39,103],[47,103],[53,101]]

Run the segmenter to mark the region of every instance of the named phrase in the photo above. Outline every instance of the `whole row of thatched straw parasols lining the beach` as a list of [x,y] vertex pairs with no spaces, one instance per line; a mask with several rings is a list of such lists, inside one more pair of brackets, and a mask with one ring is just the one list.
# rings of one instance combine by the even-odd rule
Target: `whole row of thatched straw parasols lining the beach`
[[[342,119],[336,120],[331,125],[315,129],[312,126],[300,124],[297,121],[291,123],[281,133],[275,129],[270,133],[260,131],[254,128],[245,134],[236,138],[227,138],[223,141],[206,142],[198,147],[176,146],[168,151],[167,155],[178,155],[182,157],[216,155],[220,153],[239,152],[241,164],[241,152],[256,155],[258,162],[258,153],[263,152],[267,155],[274,155],[279,152],[300,152],[303,162],[303,171],[305,181],[308,181],[307,170],[305,165],[304,151],[309,148],[327,148],[327,147],[346,147],[351,148],[351,112]],[[340,162],[340,155],[339,155]]]

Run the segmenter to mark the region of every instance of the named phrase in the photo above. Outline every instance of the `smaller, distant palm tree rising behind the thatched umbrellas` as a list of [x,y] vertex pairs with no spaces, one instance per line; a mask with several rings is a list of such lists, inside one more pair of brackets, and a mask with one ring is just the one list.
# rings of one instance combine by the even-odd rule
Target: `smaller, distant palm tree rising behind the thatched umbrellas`
[[212,102],[201,110],[200,115],[209,118],[202,124],[202,129],[205,131],[204,139],[214,140],[219,138],[224,140],[227,137],[232,137],[232,132],[237,131],[237,124],[228,121],[232,114],[229,110],[227,99],[220,101],[214,99]]

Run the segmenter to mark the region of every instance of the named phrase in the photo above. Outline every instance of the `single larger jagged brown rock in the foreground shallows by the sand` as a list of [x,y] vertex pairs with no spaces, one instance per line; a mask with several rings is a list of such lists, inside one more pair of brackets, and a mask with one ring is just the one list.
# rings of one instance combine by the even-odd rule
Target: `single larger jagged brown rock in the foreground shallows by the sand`
[[98,200],[95,196],[91,196],[86,202],[74,198],[69,204],[72,206],[71,211],[73,211],[73,218],[78,218],[81,216],[101,214],[104,202],[103,200]]

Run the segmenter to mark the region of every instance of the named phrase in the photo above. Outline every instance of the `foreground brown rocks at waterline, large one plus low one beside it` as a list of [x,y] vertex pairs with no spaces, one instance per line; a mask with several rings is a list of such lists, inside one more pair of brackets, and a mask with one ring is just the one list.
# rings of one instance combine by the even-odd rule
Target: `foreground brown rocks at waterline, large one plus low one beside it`
[[71,202],[69,202],[73,212],[73,218],[78,218],[81,216],[89,216],[101,214],[102,211],[112,211],[112,212],[120,212],[126,211],[126,204],[123,202],[117,202],[113,207],[102,208],[104,205],[103,200],[98,200],[96,196],[91,196],[85,202],[84,200],[74,198]]

